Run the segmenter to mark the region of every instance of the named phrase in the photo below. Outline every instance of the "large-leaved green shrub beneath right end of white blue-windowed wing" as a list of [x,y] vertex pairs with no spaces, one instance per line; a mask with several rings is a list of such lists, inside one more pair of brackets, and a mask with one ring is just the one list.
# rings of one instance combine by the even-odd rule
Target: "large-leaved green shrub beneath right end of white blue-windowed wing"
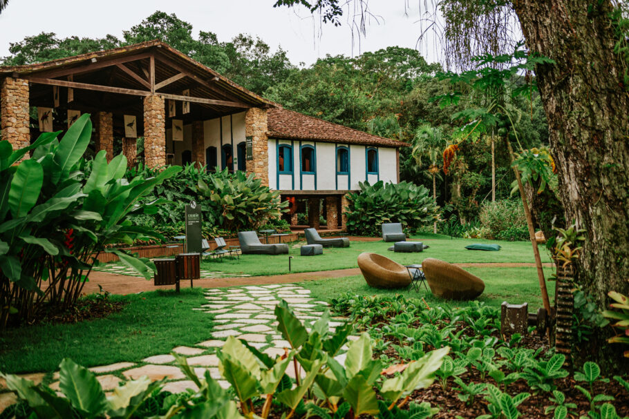
[[360,191],[346,195],[348,232],[380,235],[386,222],[400,222],[411,231],[438,220],[439,207],[428,189],[409,182],[359,182]]

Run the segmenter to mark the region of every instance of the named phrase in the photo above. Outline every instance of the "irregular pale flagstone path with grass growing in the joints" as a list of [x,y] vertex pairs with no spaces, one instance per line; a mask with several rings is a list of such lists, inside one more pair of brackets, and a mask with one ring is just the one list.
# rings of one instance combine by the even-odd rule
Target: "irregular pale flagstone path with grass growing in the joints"
[[[188,364],[194,368],[199,377],[203,377],[209,370],[212,378],[218,380],[225,388],[229,383],[223,380],[218,372],[218,357],[216,351],[225,344],[228,336],[246,340],[252,347],[267,353],[272,358],[284,353],[290,344],[283,340],[276,329],[274,309],[283,299],[297,317],[312,322],[326,310],[328,303],[315,301],[310,297],[310,290],[294,284],[270,284],[232,287],[226,289],[206,289],[206,303],[193,310],[203,311],[214,315],[216,325],[208,331],[207,340],[198,342],[191,347],[175,347],[173,352],[187,358]],[[332,318],[330,331],[343,324],[343,318]],[[357,336],[350,337],[357,339]],[[344,355],[339,355],[339,362],[344,362]],[[196,384],[186,380],[177,367],[175,358],[170,353],[158,354],[144,358],[142,362],[116,362],[115,364],[91,367],[90,371],[97,374],[97,380],[105,391],[118,387],[124,380],[134,380],[141,376],[148,376],[151,380],[169,380],[165,385],[166,391],[176,393],[185,389],[196,389]],[[294,369],[287,369],[289,375],[294,376]],[[31,373],[24,378],[36,383],[45,381],[53,390],[59,389],[59,374]],[[5,382],[0,379],[0,391],[6,389]],[[12,393],[0,393],[0,411],[10,405],[15,396]]]

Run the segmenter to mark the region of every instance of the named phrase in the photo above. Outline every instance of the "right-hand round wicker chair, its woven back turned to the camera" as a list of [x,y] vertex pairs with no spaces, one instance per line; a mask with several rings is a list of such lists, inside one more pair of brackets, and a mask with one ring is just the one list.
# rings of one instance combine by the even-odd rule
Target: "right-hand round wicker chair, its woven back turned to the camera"
[[447,300],[473,300],[485,291],[485,282],[458,266],[429,257],[422,262],[426,282],[438,297]]

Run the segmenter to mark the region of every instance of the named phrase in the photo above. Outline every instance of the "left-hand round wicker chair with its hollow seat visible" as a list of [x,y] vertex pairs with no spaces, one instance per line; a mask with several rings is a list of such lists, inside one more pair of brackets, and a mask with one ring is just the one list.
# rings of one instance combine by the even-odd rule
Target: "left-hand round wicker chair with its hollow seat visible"
[[358,267],[369,286],[404,288],[411,284],[411,275],[404,266],[376,253],[358,255]]

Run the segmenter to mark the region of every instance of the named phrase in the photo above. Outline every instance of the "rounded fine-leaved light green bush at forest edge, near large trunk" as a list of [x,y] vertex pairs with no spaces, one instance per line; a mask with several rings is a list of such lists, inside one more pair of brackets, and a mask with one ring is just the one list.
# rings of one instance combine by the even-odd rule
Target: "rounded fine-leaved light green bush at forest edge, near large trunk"
[[527,228],[524,206],[522,202],[511,199],[500,199],[496,202],[485,202],[480,208],[478,220],[482,228],[487,228],[491,239],[527,240]]

